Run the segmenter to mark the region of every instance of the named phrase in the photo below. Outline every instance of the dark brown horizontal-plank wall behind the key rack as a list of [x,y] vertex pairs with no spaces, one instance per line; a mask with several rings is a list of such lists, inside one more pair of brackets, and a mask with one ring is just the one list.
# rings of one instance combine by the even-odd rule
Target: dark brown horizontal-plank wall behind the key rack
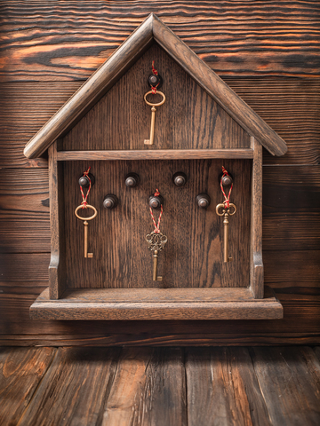
[[[150,12],[287,142],[263,167],[265,283],[284,319],[28,319],[47,286],[50,232],[47,161],[23,147]],[[319,2],[3,0],[1,15],[0,343],[319,343]]]

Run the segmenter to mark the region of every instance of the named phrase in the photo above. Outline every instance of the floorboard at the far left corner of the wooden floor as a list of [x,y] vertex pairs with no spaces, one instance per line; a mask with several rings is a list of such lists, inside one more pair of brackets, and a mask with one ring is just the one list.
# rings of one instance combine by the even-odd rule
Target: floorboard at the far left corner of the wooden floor
[[1,424],[18,424],[56,351],[55,348],[0,349]]

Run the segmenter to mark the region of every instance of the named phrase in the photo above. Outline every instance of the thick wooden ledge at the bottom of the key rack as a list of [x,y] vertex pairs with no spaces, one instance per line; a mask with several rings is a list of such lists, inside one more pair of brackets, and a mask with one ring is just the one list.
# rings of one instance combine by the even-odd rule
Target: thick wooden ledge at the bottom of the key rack
[[31,319],[281,319],[283,307],[266,288],[77,288],[59,300],[48,288],[30,307]]

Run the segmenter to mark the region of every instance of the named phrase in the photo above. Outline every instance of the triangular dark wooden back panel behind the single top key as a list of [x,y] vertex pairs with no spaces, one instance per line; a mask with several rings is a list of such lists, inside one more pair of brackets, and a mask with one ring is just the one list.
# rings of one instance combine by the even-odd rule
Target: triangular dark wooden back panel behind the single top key
[[[166,101],[156,108],[155,145],[148,147],[143,141],[149,135],[151,107],[144,102],[143,95],[148,91],[147,79],[155,59],[164,78],[161,90]],[[92,85],[93,79],[94,76],[87,84]],[[151,100],[159,99],[156,95]],[[64,111],[68,114],[67,105]],[[32,143],[39,145],[36,138]],[[245,147],[250,147],[248,134],[155,43],[69,131],[60,150]]]

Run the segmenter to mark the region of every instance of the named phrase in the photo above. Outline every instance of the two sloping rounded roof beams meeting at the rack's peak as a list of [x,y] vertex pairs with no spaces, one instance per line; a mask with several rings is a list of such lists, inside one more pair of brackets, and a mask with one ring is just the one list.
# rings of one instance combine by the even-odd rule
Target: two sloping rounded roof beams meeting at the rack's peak
[[204,61],[188,48],[171,29],[150,14],[124,43],[76,91],[68,102],[28,141],[24,154],[36,158],[76,122],[116,83],[153,43],[160,44],[180,67],[198,83],[241,127],[273,155],[282,155],[287,146],[282,138],[224,83]]

